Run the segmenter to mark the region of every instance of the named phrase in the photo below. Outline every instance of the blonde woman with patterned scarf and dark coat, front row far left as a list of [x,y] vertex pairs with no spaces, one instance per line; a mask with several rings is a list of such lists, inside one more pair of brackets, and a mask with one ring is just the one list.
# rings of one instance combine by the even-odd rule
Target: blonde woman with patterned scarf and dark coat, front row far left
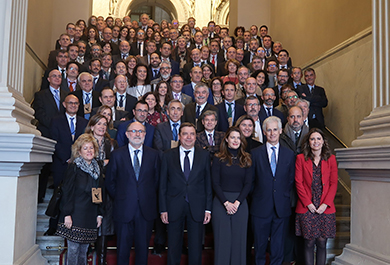
[[95,159],[98,151],[90,134],[81,135],[72,146],[56,233],[67,239],[68,265],[87,264],[89,243],[95,242],[97,228],[102,223],[102,169]]

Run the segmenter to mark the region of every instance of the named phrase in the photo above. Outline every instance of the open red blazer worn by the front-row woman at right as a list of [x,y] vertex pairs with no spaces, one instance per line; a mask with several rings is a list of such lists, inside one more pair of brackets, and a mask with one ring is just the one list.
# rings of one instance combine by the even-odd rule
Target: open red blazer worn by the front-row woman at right
[[[331,155],[328,161],[321,161],[322,173],[322,196],[321,204],[325,203],[328,208],[325,214],[336,212],[334,207],[334,197],[337,191],[337,162],[336,157]],[[298,202],[297,213],[306,213],[307,206],[312,203],[311,184],[313,181],[313,162],[308,159],[305,161],[303,154],[297,156],[295,163],[295,185],[297,187]]]

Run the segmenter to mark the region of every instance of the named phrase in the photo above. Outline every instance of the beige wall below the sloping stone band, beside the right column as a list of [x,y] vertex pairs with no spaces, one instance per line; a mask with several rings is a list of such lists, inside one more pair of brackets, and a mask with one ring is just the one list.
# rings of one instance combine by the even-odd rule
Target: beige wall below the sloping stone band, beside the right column
[[310,67],[328,97],[327,127],[351,146],[362,134],[359,122],[372,110],[372,35],[352,45],[346,43],[344,49]]

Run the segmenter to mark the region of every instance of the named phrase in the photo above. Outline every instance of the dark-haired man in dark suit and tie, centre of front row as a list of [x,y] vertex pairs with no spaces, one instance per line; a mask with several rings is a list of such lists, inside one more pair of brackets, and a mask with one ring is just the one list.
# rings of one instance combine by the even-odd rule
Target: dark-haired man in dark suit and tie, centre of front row
[[187,223],[188,264],[202,263],[203,225],[210,222],[212,191],[210,157],[196,148],[194,125],[182,123],[180,146],[163,155],[159,205],[161,220],[168,224],[168,265],[179,264],[183,228]]

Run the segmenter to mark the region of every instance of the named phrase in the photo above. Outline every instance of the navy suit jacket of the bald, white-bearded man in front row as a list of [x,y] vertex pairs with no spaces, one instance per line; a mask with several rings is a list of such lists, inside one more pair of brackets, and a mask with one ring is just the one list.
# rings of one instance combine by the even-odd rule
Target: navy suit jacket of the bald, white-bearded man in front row
[[158,152],[142,146],[142,162],[138,181],[135,177],[128,146],[111,153],[105,186],[114,198],[114,220],[128,223],[139,206],[142,216],[152,221],[157,217],[157,190],[160,175]]

